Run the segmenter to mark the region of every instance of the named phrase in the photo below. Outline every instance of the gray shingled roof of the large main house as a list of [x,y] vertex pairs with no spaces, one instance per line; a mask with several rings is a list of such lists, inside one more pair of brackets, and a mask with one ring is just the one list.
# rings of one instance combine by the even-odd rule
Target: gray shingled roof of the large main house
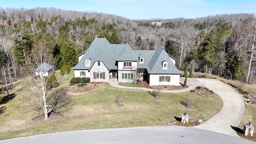
[[[139,63],[139,57],[144,57],[143,64]],[[90,67],[85,66],[86,59],[90,59]],[[128,44],[110,44],[106,38],[95,38],[73,69],[89,70],[98,60],[104,62],[109,70],[118,69],[116,61],[137,61],[137,68],[146,68],[149,74],[181,74],[162,47],[157,50],[132,50]],[[167,70],[162,69],[164,60],[168,62]]]

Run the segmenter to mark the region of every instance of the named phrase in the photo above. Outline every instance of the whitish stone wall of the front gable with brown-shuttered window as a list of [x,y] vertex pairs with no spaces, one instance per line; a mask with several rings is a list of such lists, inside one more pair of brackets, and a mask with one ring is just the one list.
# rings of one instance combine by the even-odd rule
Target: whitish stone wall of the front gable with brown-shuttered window
[[[93,72],[105,72],[105,79],[96,78],[94,79]],[[104,65],[103,62],[100,62],[100,66],[98,66],[98,62],[94,62],[92,68],[90,69],[90,82],[108,82],[109,81],[109,71]]]

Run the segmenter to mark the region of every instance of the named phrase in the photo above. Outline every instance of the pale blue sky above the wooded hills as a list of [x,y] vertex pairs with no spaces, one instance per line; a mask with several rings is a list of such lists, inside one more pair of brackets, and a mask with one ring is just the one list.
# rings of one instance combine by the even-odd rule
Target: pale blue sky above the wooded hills
[[256,14],[256,0],[0,0],[2,8],[54,7],[129,18],[197,18],[216,14]]

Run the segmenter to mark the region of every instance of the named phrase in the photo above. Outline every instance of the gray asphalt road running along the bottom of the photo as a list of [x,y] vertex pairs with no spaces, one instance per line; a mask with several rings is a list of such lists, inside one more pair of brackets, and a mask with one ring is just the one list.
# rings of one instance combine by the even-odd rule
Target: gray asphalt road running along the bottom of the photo
[[1,144],[255,144],[218,132],[185,126],[83,130],[2,140]]

